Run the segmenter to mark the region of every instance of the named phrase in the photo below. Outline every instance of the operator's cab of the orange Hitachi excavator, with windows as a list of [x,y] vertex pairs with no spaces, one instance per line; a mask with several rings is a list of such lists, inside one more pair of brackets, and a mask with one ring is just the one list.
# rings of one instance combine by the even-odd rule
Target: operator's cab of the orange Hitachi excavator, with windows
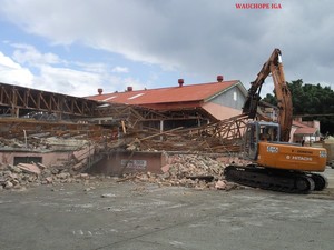
[[257,160],[258,143],[261,141],[278,142],[279,133],[279,126],[277,123],[265,121],[249,122],[244,139],[245,158]]

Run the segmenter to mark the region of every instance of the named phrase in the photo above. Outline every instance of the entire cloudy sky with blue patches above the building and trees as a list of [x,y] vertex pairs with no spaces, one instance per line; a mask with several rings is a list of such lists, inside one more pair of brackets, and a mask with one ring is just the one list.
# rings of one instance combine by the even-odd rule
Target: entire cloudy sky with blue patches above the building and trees
[[[240,3],[255,3],[243,6]],[[0,82],[87,97],[239,80],[275,48],[286,81],[334,89],[332,0],[0,0]],[[273,92],[267,78],[263,94]]]

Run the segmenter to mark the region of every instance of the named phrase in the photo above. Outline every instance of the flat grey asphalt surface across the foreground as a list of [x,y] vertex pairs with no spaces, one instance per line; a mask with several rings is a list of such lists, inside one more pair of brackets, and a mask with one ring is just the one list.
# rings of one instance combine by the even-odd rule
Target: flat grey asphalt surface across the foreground
[[116,180],[0,192],[0,249],[334,249],[328,189],[198,191]]

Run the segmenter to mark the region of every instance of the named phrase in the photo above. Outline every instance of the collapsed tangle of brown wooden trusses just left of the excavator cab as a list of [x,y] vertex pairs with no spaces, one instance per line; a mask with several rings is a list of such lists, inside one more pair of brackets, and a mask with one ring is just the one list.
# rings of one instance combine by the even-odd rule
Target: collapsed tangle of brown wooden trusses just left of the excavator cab
[[[128,146],[140,150],[239,152],[247,122],[248,117],[240,114],[198,128],[180,127],[167,131],[132,129],[128,134],[134,141]],[[125,138],[128,137],[125,134]]]

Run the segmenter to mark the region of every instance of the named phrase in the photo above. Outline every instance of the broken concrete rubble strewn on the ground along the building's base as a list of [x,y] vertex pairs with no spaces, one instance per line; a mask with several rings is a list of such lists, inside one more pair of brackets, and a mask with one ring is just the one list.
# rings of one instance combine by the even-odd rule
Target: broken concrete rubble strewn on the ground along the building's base
[[[223,171],[230,158],[208,157],[200,154],[174,154],[168,158],[163,173],[151,172],[128,173],[117,178],[117,182],[156,183],[159,187],[187,187],[197,190],[230,190],[239,188],[224,180]],[[89,183],[102,181],[104,176],[80,173],[72,167],[47,167],[41,163],[19,163],[0,167],[0,190],[24,190],[40,184],[57,186],[61,183]],[[90,183],[94,186],[94,183]]]

